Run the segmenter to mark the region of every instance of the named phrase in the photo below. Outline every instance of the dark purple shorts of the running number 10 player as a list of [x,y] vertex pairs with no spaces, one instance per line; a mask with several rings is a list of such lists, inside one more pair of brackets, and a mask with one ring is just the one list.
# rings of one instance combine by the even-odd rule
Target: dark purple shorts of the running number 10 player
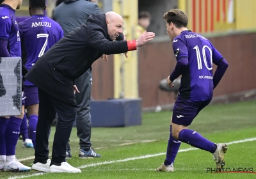
[[211,100],[177,100],[173,107],[172,122],[177,125],[191,125],[196,115],[210,102]]

